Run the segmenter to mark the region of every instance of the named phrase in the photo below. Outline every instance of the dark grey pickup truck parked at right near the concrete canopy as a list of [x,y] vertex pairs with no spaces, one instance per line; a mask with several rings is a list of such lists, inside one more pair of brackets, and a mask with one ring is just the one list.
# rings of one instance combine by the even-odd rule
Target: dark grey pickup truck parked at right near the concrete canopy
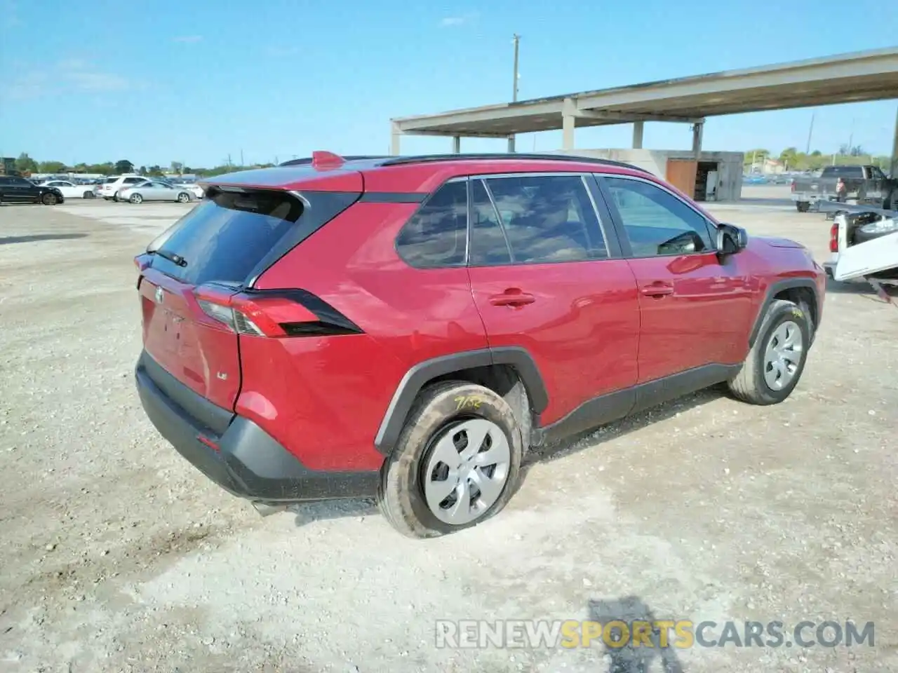
[[819,201],[836,201],[839,179],[847,188],[846,197],[859,205],[893,207],[898,200],[898,180],[885,177],[877,166],[826,166],[819,175],[792,181],[792,201],[799,213],[806,213]]

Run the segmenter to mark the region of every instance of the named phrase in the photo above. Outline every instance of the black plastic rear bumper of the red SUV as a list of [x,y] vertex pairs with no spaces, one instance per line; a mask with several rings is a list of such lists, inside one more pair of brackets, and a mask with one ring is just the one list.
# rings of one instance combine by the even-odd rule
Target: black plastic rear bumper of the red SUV
[[277,504],[377,493],[376,470],[306,468],[260,425],[211,405],[145,353],[137,361],[135,376],[140,401],[156,430],[194,467],[233,495]]

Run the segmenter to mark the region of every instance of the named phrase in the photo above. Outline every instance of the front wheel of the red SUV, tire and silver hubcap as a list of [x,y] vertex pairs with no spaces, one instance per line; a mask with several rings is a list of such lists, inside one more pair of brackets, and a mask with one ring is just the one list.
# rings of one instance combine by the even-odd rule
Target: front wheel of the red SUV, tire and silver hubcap
[[[764,315],[758,338],[745,357],[742,369],[728,382],[730,392],[735,398],[753,405],[779,404],[788,398],[801,379],[813,337],[814,326],[805,306],[798,306],[784,299],[773,300]],[[783,375],[778,377],[771,374],[769,378],[768,367],[776,368],[771,367],[770,357],[778,354],[776,349],[778,343],[787,345],[786,348],[779,349],[779,355],[784,356],[779,360]],[[789,343],[799,345],[800,352],[794,348],[789,349]],[[772,346],[770,353],[769,346]],[[787,373],[788,380],[786,380]],[[779,379],[779,385],[770,384],[774,378]]]

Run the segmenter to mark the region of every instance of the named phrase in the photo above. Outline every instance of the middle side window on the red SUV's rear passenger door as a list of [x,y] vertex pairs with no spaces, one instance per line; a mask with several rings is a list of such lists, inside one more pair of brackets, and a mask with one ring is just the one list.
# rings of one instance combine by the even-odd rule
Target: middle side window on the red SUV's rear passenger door
[[486,180],[515,264],[608,257],[583,178],[523,175]]

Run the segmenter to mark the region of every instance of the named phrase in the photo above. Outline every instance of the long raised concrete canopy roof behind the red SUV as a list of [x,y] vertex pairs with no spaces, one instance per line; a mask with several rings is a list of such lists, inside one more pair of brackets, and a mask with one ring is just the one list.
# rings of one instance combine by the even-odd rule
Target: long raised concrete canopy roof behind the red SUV
[[[769,109],[898,98],[898,48],[884,48],[774,66],[700,74],[613,89],[392,119],[399,136],[509,137],[520,133],[704,118]],[[569,138],[568,138],[569,136]],[[398,152],[396,152],[398,153]]]

